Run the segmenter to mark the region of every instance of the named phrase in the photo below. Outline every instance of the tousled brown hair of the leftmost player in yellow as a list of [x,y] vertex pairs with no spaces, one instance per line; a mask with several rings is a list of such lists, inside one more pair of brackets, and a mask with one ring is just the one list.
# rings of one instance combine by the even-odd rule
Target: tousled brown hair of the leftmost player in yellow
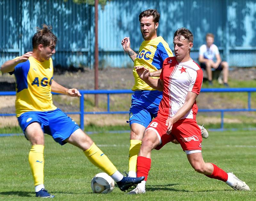
[[56,45],[57,36],[52,33],[51,29],[52,27],[46,24],[43,24],[43,28],[36,27],[36,33],[32,38],[33,49],[36,49],[40,44],[44,47]]

